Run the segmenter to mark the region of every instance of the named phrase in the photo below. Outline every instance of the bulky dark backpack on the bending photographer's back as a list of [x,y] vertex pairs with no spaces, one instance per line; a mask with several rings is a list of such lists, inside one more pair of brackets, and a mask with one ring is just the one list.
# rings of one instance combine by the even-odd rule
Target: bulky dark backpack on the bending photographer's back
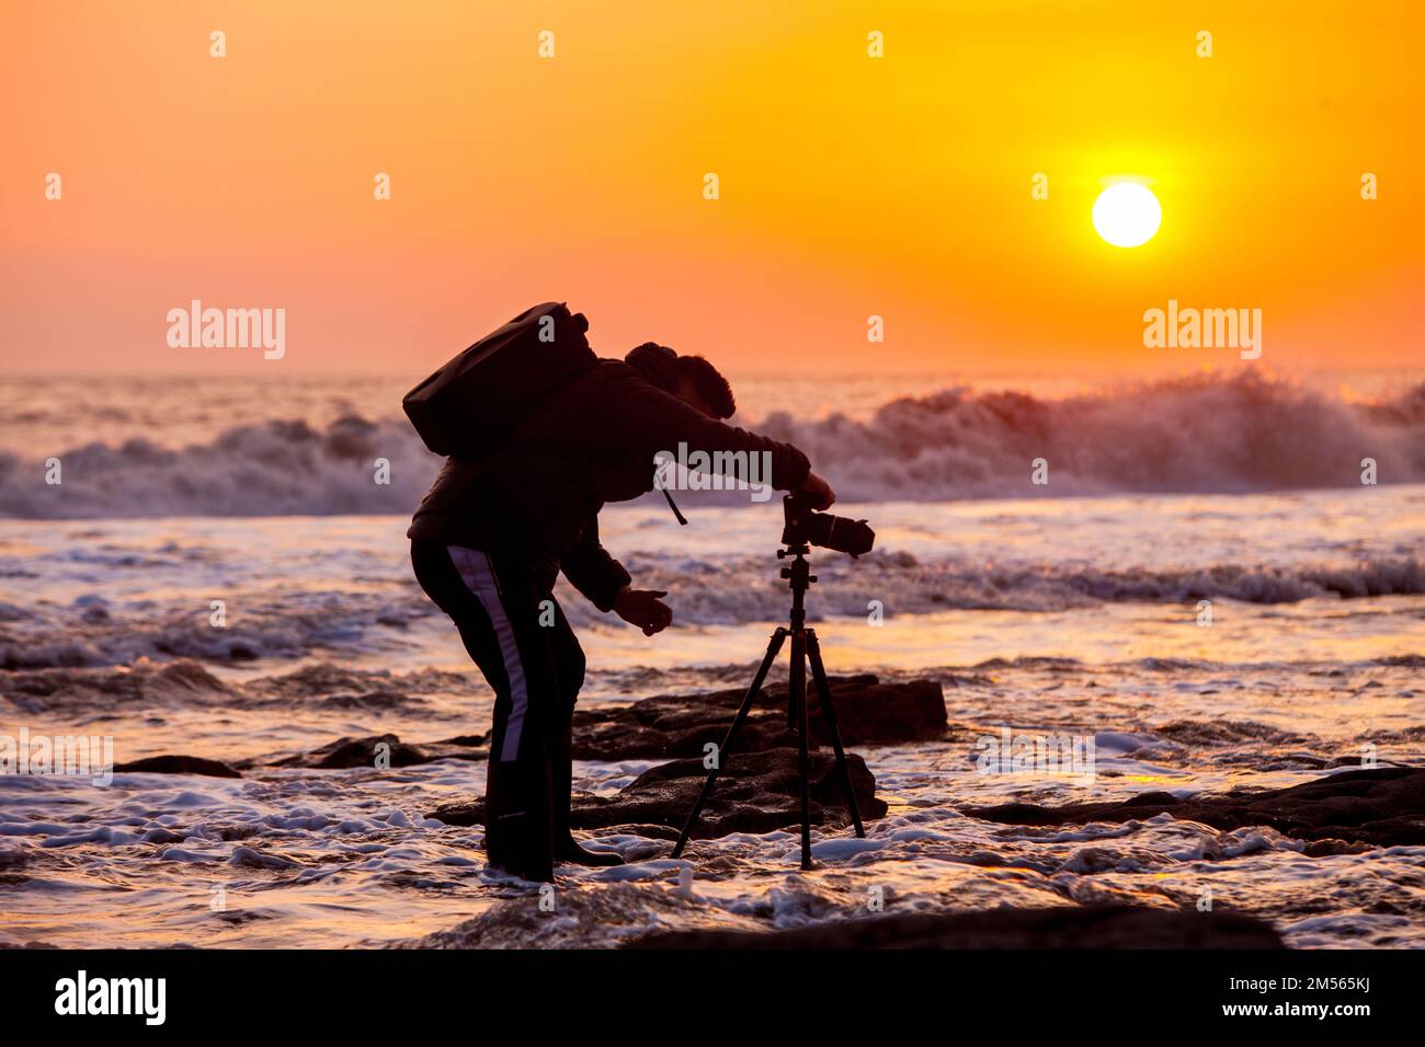
[[436,454],[499,450],[540,400],[594,366],[589,321],[563,302],[526,309],[412,389],[400,406]]

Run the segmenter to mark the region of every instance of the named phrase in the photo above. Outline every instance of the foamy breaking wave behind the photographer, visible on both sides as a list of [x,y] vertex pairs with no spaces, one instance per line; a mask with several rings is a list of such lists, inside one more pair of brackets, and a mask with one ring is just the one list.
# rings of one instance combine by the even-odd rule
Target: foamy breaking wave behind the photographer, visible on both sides
[[[1349,403],[1240,372],[1064,399],[948,389],[884,405],[868,420],[798,420],[761,432],[802,447],[845,501],[1109,493],[1240,493],[1425,481],[1425,385]],[[88,444],[38,462],[0,454],[0,516],[329,516],[409,513],[437,462],[403,419],[346,416],[228,429],[171,450],[148,440]],[[379,483],[378,459],[389,463]],[[1036,459],[1049,483],[1033,484]]]

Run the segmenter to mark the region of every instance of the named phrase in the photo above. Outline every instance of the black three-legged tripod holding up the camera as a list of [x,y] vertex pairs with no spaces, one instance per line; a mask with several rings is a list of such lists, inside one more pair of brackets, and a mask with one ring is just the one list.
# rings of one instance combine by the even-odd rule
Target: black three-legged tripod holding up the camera
[[[785,536],[782,537],[782,541],[787,543]],[[742,698],[742,705],[738,708],[737,717],[732,718],[732,725],[727,729],[727,736],[722,739],[722,746],[717,751],[717,759],[712,764],[712,769],[708,771],[707,781],[703,782],[703,791],[698,793],[698,801],[693,805],[693,812],[688,815],[688,821],[683,826],[683,833],[678,836],[678,845],[673,849],[674,858],[683,856],[683,848],[687,846],[688,836],[693,835],[693,826],[697,825],[698,815],[703,813],[703,806],[708,802],[708,796],[712,795],[712,785],[717,782],[722,759],[731,751],[732,739],[737,738],[738,729],[747,719],[747,714],[751,711],[758,691],[762,689],[767,672],[772,668],[772,662],[777,661],[777,655],[781,652],[787,637],[792,638],[792,665],[787,688],[787,726],[791,734],[797,735],[798,768],[801,771],[801,868],[811,869],[811,761],[807,752],[809,742],[809,731],[807,726],[808,660],[811,661],[811,678],[817,687],[817,699],[821,702],[821,715],[826,722],[826,734],[831,735],[831,745],[836,751],[836,769],[841,772],[841,788],[846,793],[846,806],[851,811],[851,821],[856,826],[856,836],[865,838],[866,835],[866,830],[861,826],[861,811],[856,808],[856,793],[855,789],[851,788],[851,769],[846,766],[846,754],[841,748],[841,731],[836,728],[836,707],[831,701],[831,684],[826,682],[826,670],[821,662],[821,645],[817,642],[817,630],[807,628],[807,590],[814,581],[817,581],[817,575],[811,574],[811,567],[807,563],[808,553],[811,553],[811,547],[804,543],[787,543],[787,548],[777,550],[778,560],[785,560],[787,557],[792,558],[791,566],[782,567],[781,570],[781,577],[787,578],[788,588],[792,591],[791,625],[778,625],[772,632],[772,638],[767,644],[767,654],[762,658],[762,664],[757,668],[752,685],[747,688],[747,697]]]

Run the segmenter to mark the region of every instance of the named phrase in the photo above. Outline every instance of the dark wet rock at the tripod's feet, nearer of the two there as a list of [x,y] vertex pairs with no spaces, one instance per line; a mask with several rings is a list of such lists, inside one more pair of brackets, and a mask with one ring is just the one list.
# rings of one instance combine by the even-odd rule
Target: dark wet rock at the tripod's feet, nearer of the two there
[[[862,822],[882,818],[884,801],[876,799],[875,778],[861,756],[846,754],[851,786],[856,792]],[[607,829],[643,823],[648,828],[683,828],[693,809],[707,769],[701,759],[680,759],[644,771],[617,796],[576,795],[570,822],[576,829]],[[829,751],[811,754],[812,825],[851,825],[835,756]],[[801,825],[801,779],[795,749],[735,754],[724,765],[717,788],[703,809],[694,839],[727,836],[734,832],[772,832]],[[483,825],[483,801],[447,803],[430,812],[447,825]],[[651,835],[651,833],[646,833]],[[658,833],[665,835],[665,833]]]

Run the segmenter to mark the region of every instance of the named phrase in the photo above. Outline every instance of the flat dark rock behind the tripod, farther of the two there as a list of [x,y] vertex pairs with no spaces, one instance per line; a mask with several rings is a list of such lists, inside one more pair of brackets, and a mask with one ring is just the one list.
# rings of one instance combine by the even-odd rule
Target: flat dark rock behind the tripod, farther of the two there
[[[936,741],[945,736],[945,694],[932,679],[882,684],[876,677],[831,677],[836,724],[846,745]],[[744,689],[668,694],[617,709],[576,709],[574,755],[580,759],[701,756],[707,742],[721,745]],[[829,744],[815,691],[808,691],[812,736]],[[787,732],[787,685],[758,694],[738,731],[735,748],[758,752],[792,745]]]

